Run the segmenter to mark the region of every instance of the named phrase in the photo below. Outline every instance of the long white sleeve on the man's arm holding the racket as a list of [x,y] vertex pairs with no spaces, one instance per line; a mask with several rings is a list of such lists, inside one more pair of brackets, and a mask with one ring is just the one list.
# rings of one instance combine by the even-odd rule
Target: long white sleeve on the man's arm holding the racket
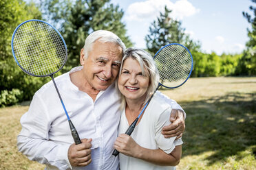
[[49,141],[50,125],[43,100],[34,95],[28,112],[21,117],[22,130],[17,136],[17,147],[30,160],[58,169],[72,169],[67,158],[70,145]]

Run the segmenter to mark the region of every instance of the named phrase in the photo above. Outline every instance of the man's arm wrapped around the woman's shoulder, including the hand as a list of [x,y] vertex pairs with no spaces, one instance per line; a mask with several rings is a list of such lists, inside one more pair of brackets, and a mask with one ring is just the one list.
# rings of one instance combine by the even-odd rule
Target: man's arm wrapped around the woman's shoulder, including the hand
[[171,110],[171,116],[170,121],[171,124],[164,126],[162,128],[162,134],[165,138],[171,138],[173,136],[177,136],[177,138],[180,138],[182,136],[182,133],[185,131],[185,121],[186,119],[186,113],[184,110],[182,110],[181,106],[177,104],[177,102],[173,99],[170,99],[166,95],[160,93],[157,91],[158,95],[164,99],[164,101],[167,102],[172,108]]

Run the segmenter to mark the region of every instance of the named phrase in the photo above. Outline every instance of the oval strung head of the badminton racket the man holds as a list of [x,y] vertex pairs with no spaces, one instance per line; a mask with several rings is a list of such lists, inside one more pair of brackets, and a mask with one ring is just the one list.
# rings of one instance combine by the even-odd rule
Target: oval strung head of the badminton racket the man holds
[[67,62],[67,45],[52,25],[32,19],[14,30],[12,54],[25,73],[46,77],[60,71]]

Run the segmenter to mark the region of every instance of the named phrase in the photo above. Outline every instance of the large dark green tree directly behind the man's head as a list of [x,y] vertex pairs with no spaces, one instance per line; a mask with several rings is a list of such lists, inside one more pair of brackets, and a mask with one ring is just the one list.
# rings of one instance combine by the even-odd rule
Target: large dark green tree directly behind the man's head
[[[43,4],[43,5],[42,5]],[[127,47],[132,45],[126,36],[125,24],[121,22],[124,12],[109,0],[41,1],[45,17],[50,17],[60,27],[68,49],[65,71],[78,66],[80,50],[85,38],[98,29],[118,35]]]

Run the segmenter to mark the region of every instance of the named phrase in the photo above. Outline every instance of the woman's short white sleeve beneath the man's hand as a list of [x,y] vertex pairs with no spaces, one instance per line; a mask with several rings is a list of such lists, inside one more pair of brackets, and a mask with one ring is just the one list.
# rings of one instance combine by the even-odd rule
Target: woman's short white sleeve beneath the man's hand
[[167,117],[170,117],[170,114],[171,114],[171,108],[164,110],[164,112],[162,112],[158,117],[158,120],[156,122],[156,127],[155,127],[156,143],[158,144],[158,147],[167,154],[170,154],[171,151],[173,151],[173,149],[175,148],[174,140],[176,138],[176,136],[171,138],[164,138],[164,136],[161,133],[162,127],[164,127],[165,125],[169,125],[171,123],[169,119],[166,119]]

